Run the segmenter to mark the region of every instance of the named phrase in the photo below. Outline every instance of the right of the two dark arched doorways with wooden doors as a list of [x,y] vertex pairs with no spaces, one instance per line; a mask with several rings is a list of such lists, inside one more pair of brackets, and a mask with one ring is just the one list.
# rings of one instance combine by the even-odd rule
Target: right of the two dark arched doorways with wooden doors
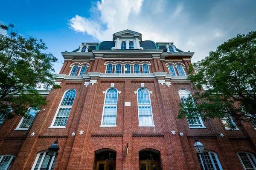
[[158,150],[143,149],[139,152],[140,170],[160,170],[159,169],[159,155]]

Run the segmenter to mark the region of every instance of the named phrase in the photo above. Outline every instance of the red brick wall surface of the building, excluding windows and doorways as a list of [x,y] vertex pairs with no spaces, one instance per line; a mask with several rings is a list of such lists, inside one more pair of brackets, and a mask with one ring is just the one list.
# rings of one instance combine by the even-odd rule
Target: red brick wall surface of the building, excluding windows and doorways
[[[95,152],[100,149],[116,152],[116,170],[139,170],[139,152],[143,149],[154,149],[160,153],[158,163],[162,170],[199,170],[199,161],[193,148],[195,137],[204,144],[205,150],[217,154],[223,170],[243,169],[236,153],[247,151],[256,154],[256,130],[250,123],[242,123],[244,126],[239,126],[239,130],[231,131],[225,130],[220,119],[204,121],[206,128],[189,128],[187,119],[177,119],[180,103],[178,91],[187,89],[192,92],[193,85],[179,76],[168,77],[170,74],[166,63],[182,63],[187,75],[193,53],[179,52],[177,55],[170,55],[171,53],[160,49],[157,50],[158,53],[154,50],[152,54],[151,51],[143,54],[143,50],[139,51],[141,54],[136,50],[127,51],[111,51],[113,57],[107,51],[97,54],[92,50],[87,56],[81,54],[81,57],[75,57],[80,54],[78,52],[63,53],[65,62],[57,80],[61,82],[61,89],[52,89],[49,92],[48,104],[37,113],[29,130],[15,130],[21,117],[6,120],[0,127],[0,155],[16,156],[11,170],[31,169],[38,152],[47,150],[56,138],[60,150],[54,170],[94,170]],[[120,57],[115,57],[114,54]],[[67,55],[71,57],[68,58]],[[124,77],[124,67],[122,74],[119,74],[120,78],[114,76],[114,73],[113,77],[104,76],[107,61],[148,61],[150,76],[140,74],[140,77]],[[63,75],[70,74],[71,64],[84,62],[87,62],[89,67],[83,78],[63,78]],[[92,79],[97,82],[86,87],[84,82],[90,82]],[[171,85],[161,85],[158,80],[171,82]],[[100,127],[105,99],[103,91],[111,88],[111,83],[120,91],[116,127]],[[134,92],[141,87],[141,83],[152,92],[150,98],[155,127],[138,126],[137,94]],[[66,127],[49,128],[64,92],[68,89],[75,89],[76,97]],[[125,106],[125,102],[131,102],[131,106]],[[82,135],[79,134],[81,130],[84,131]],[[176,132],[175,135],[172,130]],[[32,132],[35,132],[35,136],[30,136]],[[76,135],[72,136],[72,132]],[[180,132],[184,136],[180,136]],[[224,137],[219,133],[224,133]]]

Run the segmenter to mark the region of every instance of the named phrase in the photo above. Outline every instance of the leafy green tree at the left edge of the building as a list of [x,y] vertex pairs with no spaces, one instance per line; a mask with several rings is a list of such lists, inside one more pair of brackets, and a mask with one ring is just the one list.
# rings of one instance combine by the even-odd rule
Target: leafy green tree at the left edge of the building
[[37,89],[54,83],[52,62],[58,59],[41,52],[47,49],[43,40],[19,35],[13,24],[0,25],[0,29],[7,31],[0,34],[0,113],[8,113],[8,118],[24,116],[29,107],[46,105]]

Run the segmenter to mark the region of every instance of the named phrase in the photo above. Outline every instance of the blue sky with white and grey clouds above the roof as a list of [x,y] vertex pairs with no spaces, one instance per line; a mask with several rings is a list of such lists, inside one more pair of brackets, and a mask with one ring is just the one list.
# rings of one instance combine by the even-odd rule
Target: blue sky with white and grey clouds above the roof
[[[192,62],[236,34],[256,30],[256,0],[5,0],[1,6],[0,23],[14,23],[23,36],[43,39],[59,62],[61,52],[81,42],[112,40],[125,29],[195,52]],[[54,65],[56,73],[61,66]]]

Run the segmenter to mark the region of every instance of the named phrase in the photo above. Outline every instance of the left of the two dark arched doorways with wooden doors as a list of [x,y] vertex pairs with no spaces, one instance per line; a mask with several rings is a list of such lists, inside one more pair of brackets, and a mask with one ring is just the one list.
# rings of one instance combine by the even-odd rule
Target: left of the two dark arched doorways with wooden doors
[[100,149],[95,151],[96,170],[116,170],[116,151]]

